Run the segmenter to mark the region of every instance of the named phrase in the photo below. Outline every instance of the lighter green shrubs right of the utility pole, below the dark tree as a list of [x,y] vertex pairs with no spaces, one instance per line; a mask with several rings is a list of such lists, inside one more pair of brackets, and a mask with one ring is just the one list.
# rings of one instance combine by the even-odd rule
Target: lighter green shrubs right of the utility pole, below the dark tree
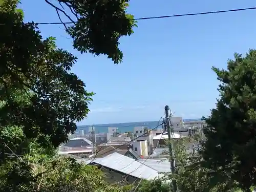
[[169,175],[175,179],[182,192],[217,192],[237,191],[233,182],[227,182],[220,176],[212,175],[211,170],[201,166],[202,157],[196,151],[188,151],[189,138],[181,138],[173,142],[176,172]]

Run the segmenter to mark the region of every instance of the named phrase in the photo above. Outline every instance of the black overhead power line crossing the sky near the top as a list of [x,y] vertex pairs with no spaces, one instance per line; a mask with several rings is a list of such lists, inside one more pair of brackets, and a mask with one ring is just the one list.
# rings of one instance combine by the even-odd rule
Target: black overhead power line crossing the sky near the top
[[[222,10],[222,11],[200,12],[200,13],[164,15],[164,16],[155,16],[155,17],[141,17],[141,18],[135,18],[133,20],[148,20],[148,19],[155,19],[155,18],[169,18],[169,17],[194,16],[194,15],[207,15],[207,14],[217,14],[217,13],[226,13],[226,12],[238,12],[238,11],[246,11],[246,10],[254,10],[254,9],[256,9],[256,7],[243,8],[243,9],[230,9],[230,10]],[[38,25],[61,25],[61,24],[73,24],[73,22],[36,23],[36,24],[38,24]]]

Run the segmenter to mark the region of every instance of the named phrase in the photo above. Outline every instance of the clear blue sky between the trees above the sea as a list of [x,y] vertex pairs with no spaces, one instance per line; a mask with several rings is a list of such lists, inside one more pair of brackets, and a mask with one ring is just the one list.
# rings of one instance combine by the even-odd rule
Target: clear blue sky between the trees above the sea
[[[55,2],[55,1],[52,1]],[[255,6],[255,1],[132,0],[136,18]],[[44,0],[22,1],[25,20],[59,22]],[[63,16],[63,18],[65,18]],[[140,20],[130,37],[121,39],[120,65],[105,56],[73,50],[61,25],[39,26],[42,35],[55,36],[57,45],[76,56],[72,69],[94,91],[87,119],[79,124],[158,120],[166,104],[183,118],[200,118],[215,107],[218,80],[211,66],[226,68],[233,53],[256,45],[256,10],[212,15]],[[64,19],[65,20],[65,19]]]

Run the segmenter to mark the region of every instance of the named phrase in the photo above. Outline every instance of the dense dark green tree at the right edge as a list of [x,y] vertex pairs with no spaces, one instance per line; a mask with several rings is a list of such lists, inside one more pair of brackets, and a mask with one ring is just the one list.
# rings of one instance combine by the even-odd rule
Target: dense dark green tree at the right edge
[[204,166],[250,191],[256,184],[256,50],[234,54],[227,69],[212,70],[221,81],[216,109],[204,118]]

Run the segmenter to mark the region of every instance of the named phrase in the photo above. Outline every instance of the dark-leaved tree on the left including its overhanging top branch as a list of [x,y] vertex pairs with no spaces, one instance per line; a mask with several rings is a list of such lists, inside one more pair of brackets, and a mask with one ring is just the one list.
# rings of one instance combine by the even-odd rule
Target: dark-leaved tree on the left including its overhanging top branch
[[[53,6],[57,13],[63,10]],[[126,1],[58,1],[69,7],[77,21],[66,26],[74,39],[74,48],[106,54],[120,62],[119,38],[131,34],[135,20],[126,14]],[[76,57],[58,49],[55,38],[42,39],[37,25],[23,23],[23,13],[17,9],[18,0],[0,4],[0,100],[2,126],[23,127],[27,138],[45,138],[54,145],[67,141],[68,133],[76,130],[76,121],[85,118],[93,92],[84,90],[85,84],[73,73],[71,67]],[[61,19],[61,18],[60,18]],[[66,24],[63,24],[66,25]],[[26,40],[25,40],[26,39]],[[10,99],[11,90],[22,90],[30,97],[30,103],[19,105]]]

